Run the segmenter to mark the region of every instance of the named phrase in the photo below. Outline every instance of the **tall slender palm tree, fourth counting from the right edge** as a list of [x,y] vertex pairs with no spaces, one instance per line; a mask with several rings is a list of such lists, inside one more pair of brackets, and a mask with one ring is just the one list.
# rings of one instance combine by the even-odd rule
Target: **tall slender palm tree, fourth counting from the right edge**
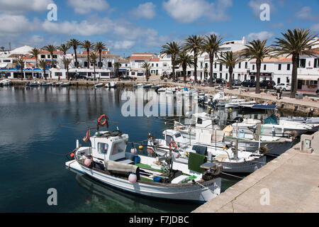
[[220,45],[222,45],[222,39],[217,37],[215,34],[205,35],[205,39],[203,40],[203,52],[207,52],[209,56],[209,86],[213,87],[213,61],[214,56],[220,52]]

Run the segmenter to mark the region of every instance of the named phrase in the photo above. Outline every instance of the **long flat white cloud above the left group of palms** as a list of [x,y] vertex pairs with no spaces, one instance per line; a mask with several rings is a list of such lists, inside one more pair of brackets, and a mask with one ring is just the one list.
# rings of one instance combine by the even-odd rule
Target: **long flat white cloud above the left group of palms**
[[42,25],[43,30],[48,33],[60,33],[65,35],[101,35],[110,31],[113,27],[109,18],[101,18],[99,21],[45,21]]

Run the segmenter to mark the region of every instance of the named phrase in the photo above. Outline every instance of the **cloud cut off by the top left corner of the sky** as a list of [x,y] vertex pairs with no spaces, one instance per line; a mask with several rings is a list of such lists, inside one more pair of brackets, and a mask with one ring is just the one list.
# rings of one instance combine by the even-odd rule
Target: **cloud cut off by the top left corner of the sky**
[[26,11],[46,11],[52,0],[0,0],[0,11],[5,13],[23,13]]

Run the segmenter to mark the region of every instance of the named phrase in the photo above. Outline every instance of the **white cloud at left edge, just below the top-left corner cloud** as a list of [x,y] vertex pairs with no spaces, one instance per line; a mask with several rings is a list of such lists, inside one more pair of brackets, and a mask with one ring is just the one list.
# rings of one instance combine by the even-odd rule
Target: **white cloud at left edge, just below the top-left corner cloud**
[[17,36],[26,32],[37,31],[40,26],[40,21],[37,18],[33,21],[29,21],[28,18],[23,15],[1,13],[0,21],[1,36]]

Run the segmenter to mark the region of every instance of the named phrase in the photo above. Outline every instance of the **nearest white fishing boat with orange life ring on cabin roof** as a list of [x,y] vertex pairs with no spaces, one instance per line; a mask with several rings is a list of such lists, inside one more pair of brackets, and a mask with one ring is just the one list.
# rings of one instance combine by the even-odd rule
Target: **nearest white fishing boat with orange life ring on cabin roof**
[[116,189],[153,198],[206,202],[220,194],[217,165],[203,173],[189,170],[188,174],[174,170],[167,158],[167,167],[157,162],[161,167],[152,168],[154,157],[125,153],[128,134],[97,131],[89,140],[90,147],[80,146],[77,140],[77,148],[69,153],[74,160],[65,163],[67,168]]

